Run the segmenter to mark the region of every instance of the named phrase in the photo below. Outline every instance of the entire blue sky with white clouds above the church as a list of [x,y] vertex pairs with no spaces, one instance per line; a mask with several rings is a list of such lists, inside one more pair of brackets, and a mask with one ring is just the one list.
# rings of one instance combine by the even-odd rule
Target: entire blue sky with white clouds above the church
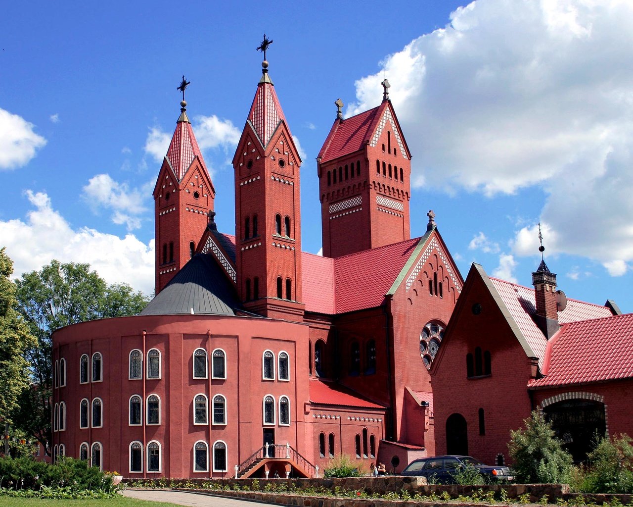
[[391,99],[426,213],[466,276],[530,285],[540,257],[568,297],[633,311],[633,7],[606,0],[12,3],[0,20],[0,246],[16,274],[89,262],[153,290],[151,191],[187,113],[234,231],[230,159],[263,32],[303,151],[303,248],[321,247],[315,157],[341,98]]

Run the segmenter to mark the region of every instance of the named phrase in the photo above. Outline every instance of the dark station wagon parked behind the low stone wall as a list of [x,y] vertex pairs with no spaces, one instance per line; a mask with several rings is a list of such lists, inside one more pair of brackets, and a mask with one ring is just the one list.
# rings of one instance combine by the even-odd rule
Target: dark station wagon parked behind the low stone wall
[[454,484],[454,475],[467,466],[473,466],[491,482],[512,480],[512,472],[507,466],[484,465],[472,456],[432,456],[411,461],[400,475],[419,475],[426,477],[429,483]]

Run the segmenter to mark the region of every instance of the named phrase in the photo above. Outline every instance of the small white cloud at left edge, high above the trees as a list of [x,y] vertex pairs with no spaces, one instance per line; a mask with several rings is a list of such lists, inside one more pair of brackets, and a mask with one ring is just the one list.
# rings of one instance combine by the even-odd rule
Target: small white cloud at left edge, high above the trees
[[46,144],[34,127],[21,116],[0,108],[0,170],[27,165]]

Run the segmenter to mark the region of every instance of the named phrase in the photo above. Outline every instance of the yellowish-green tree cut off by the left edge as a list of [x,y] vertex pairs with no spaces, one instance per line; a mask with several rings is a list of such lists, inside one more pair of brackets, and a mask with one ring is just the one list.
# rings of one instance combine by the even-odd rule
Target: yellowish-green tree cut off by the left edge
[[[25,350],[33,347],[35,338],[17,311],[16,286],[9,276],[13,261],[0,248],[0,421],[11,422],[18,396],[29,382]],[[3,432],[4,433],[4,432]]]

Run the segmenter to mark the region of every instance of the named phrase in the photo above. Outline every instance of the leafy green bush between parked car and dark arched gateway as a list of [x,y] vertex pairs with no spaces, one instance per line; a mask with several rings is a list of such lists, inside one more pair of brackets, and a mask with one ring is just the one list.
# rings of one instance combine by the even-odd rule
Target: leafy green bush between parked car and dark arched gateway
[[572,456],[563,450],[551,424],[539,411],[523,420],[524,428],[510,432],[508,450],[517,482],[568,482]]

